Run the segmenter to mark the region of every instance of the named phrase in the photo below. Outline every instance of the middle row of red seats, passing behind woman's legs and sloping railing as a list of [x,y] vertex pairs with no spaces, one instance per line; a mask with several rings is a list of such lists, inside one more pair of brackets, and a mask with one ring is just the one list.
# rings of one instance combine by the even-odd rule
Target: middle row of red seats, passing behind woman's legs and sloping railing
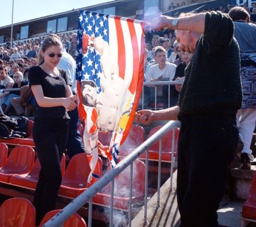
[[[8,185],[15,185],[22,188],[34,190],[38,181],[40,164],[38,158],[35,159],[35,151],[29,146],[19,146],[13,148],[7,158],[7,145],[0,144],[0,182]],[[2,155],[4,154],[4,155]],[[100,176],[102,176],[102,160],[98,159],[100,166]],[[60,186],[59,196],[66,198],[76,198],[87,189],[87,178],[90,173],[90,166],[87,155],[77,154],[71,158],[65,170],[65,155],[61,160],[63,173],[62,185]],[[114,207],[115,209],[129,209],[129,168],[120,173],[115,179]],[[145,164],[140,160],[133,163],[133,202],[137,203],[144,199]],[[121,189],[120,189],[121,188]],[[106,185],[99,193],[93,197],[93,203],[100,206],[109,206],[110,184]]]

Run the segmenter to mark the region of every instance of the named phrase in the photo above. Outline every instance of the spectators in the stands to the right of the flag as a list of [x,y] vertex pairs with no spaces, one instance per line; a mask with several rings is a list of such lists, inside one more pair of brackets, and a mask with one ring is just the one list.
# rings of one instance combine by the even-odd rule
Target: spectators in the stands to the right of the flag
[[[192,4],[200,2],[192,0]],[[185,2],[177,3],[170,2],[168,10],[173,10],[178,7],[185,6]],[[226,7],[220,6],[219,8],[209,8],[208,10],[197,11],[194,13],[206,13],[207,11],[221,11],[222,13],[228,13],[232,8],[237,5],[228,4]],[[256,4],[252,2],[249,8],[247,4],[243,5],[243,8],[248,11],[251,23],[256,23]],[[187,12],[184,12],[187,13]],[[192,54],[187,54],[178,50],[179,43],[176,41],[176,36],[173,30],[161,30],[145,32],[146,54],[145,54],[145,81],[157,81],[157,80],[184,80],[184,70],[187,64],[190,62]],[[161,54],[159,54],[161,50]],[[161,66],[163,55],[166,57],[166,63]],[[159,67],[158,67],[159,66]],[[170,68],[174,70],[170,70]],[[157,86],[157,107],[166,108],[174,106],[178,102],[179,91],[181,87],[179,85],[170,86],[167,85]],[[144,87],[144,108],[152,108],[154,106],[154,88],[150,86]],[[169,94],[168,94],[169,92]],[[170,103],[168,104],[168,97],[170,97]]]

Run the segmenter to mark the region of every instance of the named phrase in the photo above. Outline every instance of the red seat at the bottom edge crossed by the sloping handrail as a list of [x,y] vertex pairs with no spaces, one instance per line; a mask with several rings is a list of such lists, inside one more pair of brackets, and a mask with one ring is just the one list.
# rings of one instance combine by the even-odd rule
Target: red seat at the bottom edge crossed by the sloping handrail
[[[59,213],[60,210],[52,210],[45,214],[44,218],[41,220],[39,227],[42,227],[48,220],[51,219],[55,214]],[[77,213],[74,213],[68,220],[63,223],[63,227],[87,227],[84,219]]]

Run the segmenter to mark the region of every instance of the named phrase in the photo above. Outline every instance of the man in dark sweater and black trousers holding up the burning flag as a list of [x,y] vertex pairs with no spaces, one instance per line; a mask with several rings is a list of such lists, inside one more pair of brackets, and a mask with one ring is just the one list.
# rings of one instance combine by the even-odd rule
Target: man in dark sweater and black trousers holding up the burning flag
[[242,103],[240,58],[234,24],[220,12],[161,15],[152,29],[176,29],[183,52],[193,52],[178,106],[141,110],[135,120],[181,121],[178,141],[177,200],[182,227],[217,227],[225,173],[234,158]]

